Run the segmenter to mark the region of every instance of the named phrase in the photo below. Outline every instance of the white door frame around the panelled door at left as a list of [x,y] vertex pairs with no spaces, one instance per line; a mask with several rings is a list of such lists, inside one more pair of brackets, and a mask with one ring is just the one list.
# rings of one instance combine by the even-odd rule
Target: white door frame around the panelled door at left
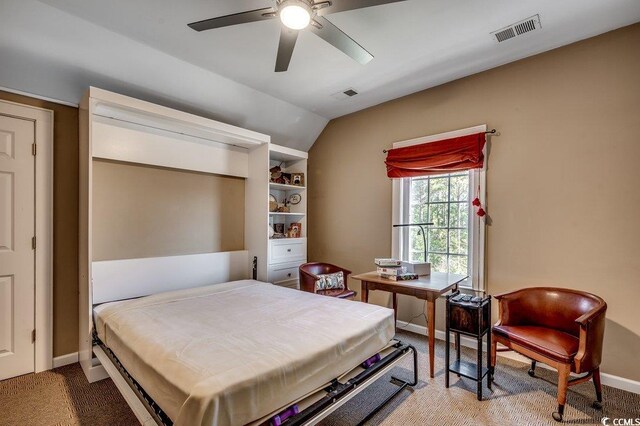
[[0,113],[33,122],[35,156],[35,363],[53,368],[53,111],[0,100]]

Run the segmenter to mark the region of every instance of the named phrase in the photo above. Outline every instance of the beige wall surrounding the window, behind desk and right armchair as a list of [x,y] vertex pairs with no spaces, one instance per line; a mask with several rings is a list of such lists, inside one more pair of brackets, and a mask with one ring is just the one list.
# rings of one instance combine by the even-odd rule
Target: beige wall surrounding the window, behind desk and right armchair
[[[640,380],[638,46],[640,24],[332,120],[309,154],[309,259],[371,270],[391,251],[382,149],[486,123],[500,132],[488,161],[489,292],[602,296],[603,371]],[[400,317],[421,310],[404,299]]]

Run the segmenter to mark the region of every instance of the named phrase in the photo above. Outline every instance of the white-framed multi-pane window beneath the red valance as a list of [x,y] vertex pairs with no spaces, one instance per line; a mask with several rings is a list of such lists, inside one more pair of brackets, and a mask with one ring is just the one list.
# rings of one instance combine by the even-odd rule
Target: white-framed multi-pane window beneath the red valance
[[[433,138],[445,139],[439,135]],[[468,275],[462,285],[484,289],[484,219],[471,204],[479,188],[484,202],[484,171],[395,179],[393,185],[394,224],[433,222],[426,235],[431,270]],[[393,232],[394,257],[424,261],[419,227],[394,228]]]

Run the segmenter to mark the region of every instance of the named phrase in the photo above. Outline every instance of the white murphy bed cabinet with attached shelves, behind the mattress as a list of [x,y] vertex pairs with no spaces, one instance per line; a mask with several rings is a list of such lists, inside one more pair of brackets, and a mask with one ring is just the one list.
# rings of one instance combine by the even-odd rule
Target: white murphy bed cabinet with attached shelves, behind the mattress
[[[94,262],[92,258],[92,170],[94,159],[193,170],[245,179],[244,250],[223,253]],[[95,303],[123,298],[123,291],[143,295],[157,276],[173,272],[180,285],[203,285],[251,278],[254,257],[257,279],[297,288],[298,265],[306,261],[306,189],[269,183],[269,168],[284,161],[288,172],[307,172],[307,154],[273,145],[270,137],[218,121],[91,87],[80,104],[79,203],[79,355],[93,382],[107,377],[93,356],[92,309]],[[305,182],[306,183],[306,182]],[[269,194],[278,198],[297,192],[301,201],[289,215],[269,213]],[[281,200],[280,200],[281,201]],[[302,238],[269,239],[270,223],[302,223]],[[154,265],[161,268],[156,268]],[[169,265],[180,264],[181,268]],[[128,266],[127,266],[128,265]],[[169,266],[169,267],[168,267]],[[138,271],[131,276],[127,271]],[[140,272],[142,271],[142,272]],[[113,277],[124,278],[122,280]],[[177,278],[176,278],[177,277]],[[182,279],[181,279],[182,278]],[[95,281],[95,291],[94,291]],[[112,284],[116,281],[124,283]],[[167,288],[175,288],[168,283]],[[128,287],[129,290],[127,290]],[[118,297],[119,296],[119,297]]]

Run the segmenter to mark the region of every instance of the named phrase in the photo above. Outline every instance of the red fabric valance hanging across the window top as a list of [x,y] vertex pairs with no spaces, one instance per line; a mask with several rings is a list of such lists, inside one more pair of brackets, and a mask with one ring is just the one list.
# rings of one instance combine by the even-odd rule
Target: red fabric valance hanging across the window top
[[404,178],[480,169],[485,134],[461,136],[389,150],[385,164],[387,176]]

